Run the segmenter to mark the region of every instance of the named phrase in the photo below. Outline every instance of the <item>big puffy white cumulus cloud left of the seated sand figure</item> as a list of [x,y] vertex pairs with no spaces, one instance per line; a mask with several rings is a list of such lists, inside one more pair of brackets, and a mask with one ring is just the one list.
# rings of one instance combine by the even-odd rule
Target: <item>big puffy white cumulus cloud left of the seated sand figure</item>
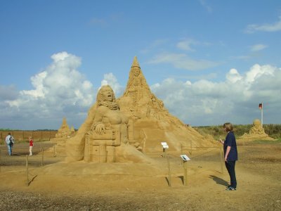
[[[51,58],[51,65],[31,77],[34,89],[19,91],[18,95],[13,94],[14,98],[2,101],[1,109],[9,111],[8,114],[1,112],[2,117],[26,122],[22,129],[32,121],[46,123],[54,119],[59,120],[58,123],[49,128],[57,129],[63,117],[72,120],[86,117],[96,93],[91,82],[78,71],[81,58],[67,52],[55,53]],[[38,127],[40,129],[40,125]]]

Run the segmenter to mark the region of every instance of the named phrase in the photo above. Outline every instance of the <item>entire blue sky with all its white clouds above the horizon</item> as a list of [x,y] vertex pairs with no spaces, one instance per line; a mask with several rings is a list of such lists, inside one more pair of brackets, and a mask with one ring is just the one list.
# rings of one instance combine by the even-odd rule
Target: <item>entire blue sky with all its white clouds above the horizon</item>
[[79,128],[134,56],[186,124],[281,123],[279,0],[0,0],[0,29],[0,128]]

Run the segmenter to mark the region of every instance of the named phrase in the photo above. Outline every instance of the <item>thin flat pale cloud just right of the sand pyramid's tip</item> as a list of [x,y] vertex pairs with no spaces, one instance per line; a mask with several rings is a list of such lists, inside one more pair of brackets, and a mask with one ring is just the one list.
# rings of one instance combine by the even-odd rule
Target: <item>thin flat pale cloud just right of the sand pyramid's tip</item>
[[192,59],[184,53],[161,53],[155,56],[155,58],[150,60],[148,63],[168,63],[173,65],[175,68],[184,70],[204,70],[207,68],[214,68],[219,65],[219,63],[211,60]]

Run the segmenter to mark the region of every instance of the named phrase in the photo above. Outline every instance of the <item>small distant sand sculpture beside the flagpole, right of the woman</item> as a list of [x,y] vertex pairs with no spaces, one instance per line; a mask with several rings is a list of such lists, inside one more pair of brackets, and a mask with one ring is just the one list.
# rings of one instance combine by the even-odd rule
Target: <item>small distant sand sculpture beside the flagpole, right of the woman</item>
[[245,133],[244,135],[240,136],[239,139],[244,139],[247,141],[253,140],[274,140],[266,132],[264,132],[263,127],[261,126],[261,121],[256,119],[253,121],[253,126],[249,130],[249,134]]

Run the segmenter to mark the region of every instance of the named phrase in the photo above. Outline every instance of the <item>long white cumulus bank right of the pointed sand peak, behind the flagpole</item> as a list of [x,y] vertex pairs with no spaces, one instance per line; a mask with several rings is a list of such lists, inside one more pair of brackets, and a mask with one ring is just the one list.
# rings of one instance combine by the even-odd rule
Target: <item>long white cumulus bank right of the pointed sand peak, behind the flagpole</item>
[[251,124],[260,117],[261,102],[268,124],[280,122],[276,116],[281,108],[281,99],[277,97],[281,96],[280,84],[281,68],[256,64],[243,74],[229,70],[223,82],[165,79],[151,89],[171,113],[187,124]]

